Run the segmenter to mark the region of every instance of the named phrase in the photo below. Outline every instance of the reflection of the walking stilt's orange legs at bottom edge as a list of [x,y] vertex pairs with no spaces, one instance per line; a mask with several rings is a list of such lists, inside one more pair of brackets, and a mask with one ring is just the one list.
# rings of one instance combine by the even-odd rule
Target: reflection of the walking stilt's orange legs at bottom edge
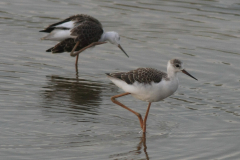
[[[118,153],[111,155],[109,158],[114,159],[137,159],[135,156],[144,153],[145,159],[149,160],[149,156],[147,153],[147,144],[146,144],[146,133],[142,133],[142,137],[140,137],[140,142],[138,143],[137,149],[129,151],[127,153]],[[142,151],[141,151],[142,150]]]

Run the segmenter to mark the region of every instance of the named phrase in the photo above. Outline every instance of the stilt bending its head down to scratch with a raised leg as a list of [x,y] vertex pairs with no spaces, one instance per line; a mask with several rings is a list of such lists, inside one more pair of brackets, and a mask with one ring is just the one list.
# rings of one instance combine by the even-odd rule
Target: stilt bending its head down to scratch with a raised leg
[[[127,57],[127,53],[120,45],[120,36],[117,32],[104,32],[102,24],[94,17],[78,14],[66,18],[60,22],[49,25],[39,32],[49,33],[42,40],[60,41],[46,52],[62,53],[71,52],[76,57],[75,65],[78,64],[78,55],[87,48],[104,44],[106,41],[118,46]],[[76,52],[75,52],[76,51]]]

